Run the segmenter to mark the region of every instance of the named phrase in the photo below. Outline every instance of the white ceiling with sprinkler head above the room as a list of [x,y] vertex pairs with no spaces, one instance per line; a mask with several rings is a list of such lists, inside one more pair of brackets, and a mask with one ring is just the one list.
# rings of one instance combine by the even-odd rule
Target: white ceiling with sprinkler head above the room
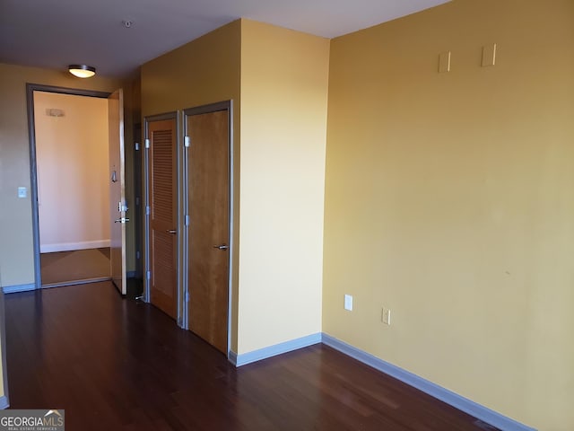
[[122,77],[241,17],[334,38],[446,1],[0,0],[0,63]]

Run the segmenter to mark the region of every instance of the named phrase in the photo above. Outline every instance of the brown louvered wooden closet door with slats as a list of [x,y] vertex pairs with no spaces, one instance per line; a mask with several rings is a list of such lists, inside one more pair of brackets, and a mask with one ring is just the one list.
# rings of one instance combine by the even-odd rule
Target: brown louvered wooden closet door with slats
[[177,318],[176,120],[149,124],[150,296]]

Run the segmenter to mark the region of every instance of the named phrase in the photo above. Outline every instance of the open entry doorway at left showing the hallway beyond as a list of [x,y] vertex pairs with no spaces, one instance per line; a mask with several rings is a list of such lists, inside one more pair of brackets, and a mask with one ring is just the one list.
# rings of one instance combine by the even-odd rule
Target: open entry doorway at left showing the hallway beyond
[[109,279],[109,93],[28,84],[27,97],[36,288]]

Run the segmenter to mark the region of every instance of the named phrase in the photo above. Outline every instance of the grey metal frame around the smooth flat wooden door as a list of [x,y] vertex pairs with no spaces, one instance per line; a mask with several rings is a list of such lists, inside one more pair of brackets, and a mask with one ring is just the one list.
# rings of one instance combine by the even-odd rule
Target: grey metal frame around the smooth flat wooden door
[[[233,234],[234,234],[234,230],[233,230],[233,224],[234,224],[234,209],[235,209],[235,201],[234,201],[234,196],[233,196],[233,190],[234,190],[234,166],[235,166],[235,161],[234,161],[234,157],[233,157],[233,142],[234,142],[234,136],[233,136],[233,101],[229,100],[229,101],[219,101],[219,102],[215,102],[215,103],[210,103],[210,104],[206,104],[206,105],[201,105],[201,106],[196,106],[193,108],[187,108],[185,110],[183,110],[181,112],[181,123],[183,125],[183,133],[184,133],[184,139],[187,141],[186,137],[188,136],[187,134],[187,117],[191,117],[194,115],[201,115],[201,114],[209,114],[211,112],[217,112],[220,110],[227,110],[227,119],[228,119],[228,123],[227,123],[227,127],[228,127],[228,145],[229,145],[229,159],[228,159],[228,169],[229,169],[229,178],[230,178],[230,182],[229,182],[229,196],[230,196],[230,202],[229,202],[229,268],[228,268],[228,275],[227,275],[227,283],[228,283],[228,299],[227,299],[227,357],[228,359],[230,359],[230,353],[231,353],[231,321],[232,321],[232,312],[233,312],[233,307],[232,307],[232,303],[233,303],[233,264],[234,264],[234,250],[235,250],[235,242],[234,242],[234,238],[233,238]],[[193,143],[191,144],[193,145]],[[185,196],[184,196],[184,209],[185,209],[185,216],[184,218],[186,220],[189,219],[189,202],[188,202],[188,194],[187,194],[187,168],[189,166],[188,163],[188,157],[189,154],[187,152],[187,148],[188,148],[188,144],[186,142],[186,145],[184,145],[184,154],[185,154],[185,162],[184,162],[184,175],[183,175],[183,181],[184,181],[184,185],[185,185]],[[187,223],[184,225],[184,237],[186,240],[189,239],[189,229],[187,226]],[[187,275],[187,271],[188,271],[188,265],[187,265],[187,258],[188,258],[188,253],[189,253],[189,242],[188,241],[184,241],[183,244],[183,251],[184,251],[184,274]],[[184,303],[184,326],[183,328],[185,328],[186,330],[189,330],[189,316],[188,316],[188,301],[189,301],[189,283],[188,283],[188,279],[187,277],[184,277],[183,280],[183,289],[184,289],[184,296],[186,298],[186,301]]]

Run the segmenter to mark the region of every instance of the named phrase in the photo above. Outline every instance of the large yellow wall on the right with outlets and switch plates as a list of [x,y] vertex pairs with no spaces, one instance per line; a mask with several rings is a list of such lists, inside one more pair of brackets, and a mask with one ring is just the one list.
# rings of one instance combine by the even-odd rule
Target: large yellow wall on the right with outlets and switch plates
[[571,0],[455,0],[332,41],[326,333],[574,429],[573,77]]

